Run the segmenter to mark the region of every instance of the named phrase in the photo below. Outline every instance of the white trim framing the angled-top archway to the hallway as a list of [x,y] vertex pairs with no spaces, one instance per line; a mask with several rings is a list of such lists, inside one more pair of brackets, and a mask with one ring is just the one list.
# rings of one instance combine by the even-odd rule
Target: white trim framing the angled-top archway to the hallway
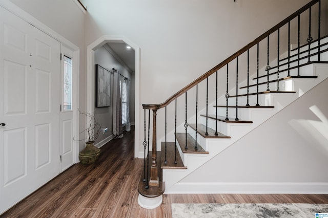
[[[87,113],[94,113],[95,105],[95,72],[94,51],[104,46],[107,42],[125,42],[135,51],[135,123],[139,124],[140,107],[140,48],[124,36],[101,36],[87,47]],[[139,153],[139,128],[134,131],[134,157]]]

